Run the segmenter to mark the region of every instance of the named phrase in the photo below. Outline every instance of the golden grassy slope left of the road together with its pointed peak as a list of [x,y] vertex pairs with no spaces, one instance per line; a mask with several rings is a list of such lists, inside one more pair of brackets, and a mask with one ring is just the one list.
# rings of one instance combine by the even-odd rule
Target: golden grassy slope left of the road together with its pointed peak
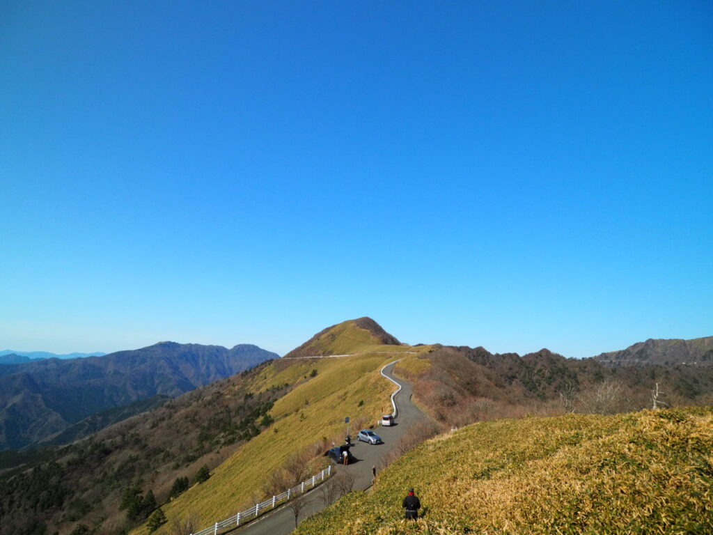
[[[253,383],[253,392],[284,383],[295,385],[270,410],[274,423],[220,464],[205,483],[165,504],[162,509],[169,523],[156,533],[168,534],[174,519],[191,516],[207,525],[264,499],[272,472],[292,454],[343,437],[346,416],[359,427],[389,410],[394,384],[381,376],[381,367],[406,352],[426,350],[428,347],[400,345],[373,320],[361,318],[329,327],[282,359],[270,362]],[[354,355],[290,358],[302,353]]]

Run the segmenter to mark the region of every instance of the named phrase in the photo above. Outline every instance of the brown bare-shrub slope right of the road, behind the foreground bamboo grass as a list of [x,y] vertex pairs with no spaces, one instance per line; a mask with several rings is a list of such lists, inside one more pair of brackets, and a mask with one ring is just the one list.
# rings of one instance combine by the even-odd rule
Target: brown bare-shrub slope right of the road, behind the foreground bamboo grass
[[439,422],[460,427],[525,414],[611,414],[652,407],[659,383],[667,404],[711,404],[713,368],[609,367],[543,349],[520,357],[483,347],[434,345],[407,355],[396,374],[414,384],[414,400]]

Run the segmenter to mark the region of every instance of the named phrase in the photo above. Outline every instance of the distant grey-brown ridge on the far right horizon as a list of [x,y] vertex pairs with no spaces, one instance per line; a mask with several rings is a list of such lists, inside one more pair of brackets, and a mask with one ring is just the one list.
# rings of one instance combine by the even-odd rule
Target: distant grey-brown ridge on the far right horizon
[[693,340],[653,340],[637,342],[625,350],[594,357],[609,366],[676,365],[713,366],[713,336]]

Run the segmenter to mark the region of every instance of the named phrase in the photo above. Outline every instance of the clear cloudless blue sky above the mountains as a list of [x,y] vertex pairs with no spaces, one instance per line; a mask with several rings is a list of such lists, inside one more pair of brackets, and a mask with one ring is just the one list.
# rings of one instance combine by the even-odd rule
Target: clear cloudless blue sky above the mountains
[[0,349],[713,335],[713,4],[4,0],[0,203]]

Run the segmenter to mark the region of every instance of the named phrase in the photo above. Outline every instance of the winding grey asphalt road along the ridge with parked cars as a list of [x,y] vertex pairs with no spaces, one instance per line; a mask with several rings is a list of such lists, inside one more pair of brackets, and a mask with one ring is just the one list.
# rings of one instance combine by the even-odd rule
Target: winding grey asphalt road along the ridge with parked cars
[[[401,436],[421,419],[425,419],[424,413],[421,412],[413,403],[411,403],[411,384],[403,379],[396,379],[391,373],[394,370],[395,363],[392,363],[384,368],[384,373],[401,384],[401,392],[396,395],[394,401],[399,409],[399,417],[396,418],[394,427],[378,427],[374,429],[376,434],[384,440],[384,444],[366,444],[366,442],[356,442],[352,446],[352,454],[356,457],[356,462],[347,465],[346,467],[339,465],[332,469],[350,472],[354,474],[354,489],[365,490],[371,486],[371,467],[379,467],[379,461],[384,455],[391,452],[396,447]],[[359,429],[352,431],[352,436],[356,440],[356,433]],[[333,472],[334,474],[334,472]],[[334,474],[336,475],[336,474]],[[332,475],[332,477],[334,477]],[[404,489],[406,491],[406,489]],[[304,509],[300,511],[299,521],[306,519],[309,516],[321,511],[326,507],[324,501],[320,497],[319,486],[314,491],[307,493],[304,496],[307,503]],[[271,513],[260,516],[259,519],[252,521],[245,527],[238,528],[232,533],[240,533],[241,535],[287,535],[294,530],[294,513],[287,506],[282,506]]]

